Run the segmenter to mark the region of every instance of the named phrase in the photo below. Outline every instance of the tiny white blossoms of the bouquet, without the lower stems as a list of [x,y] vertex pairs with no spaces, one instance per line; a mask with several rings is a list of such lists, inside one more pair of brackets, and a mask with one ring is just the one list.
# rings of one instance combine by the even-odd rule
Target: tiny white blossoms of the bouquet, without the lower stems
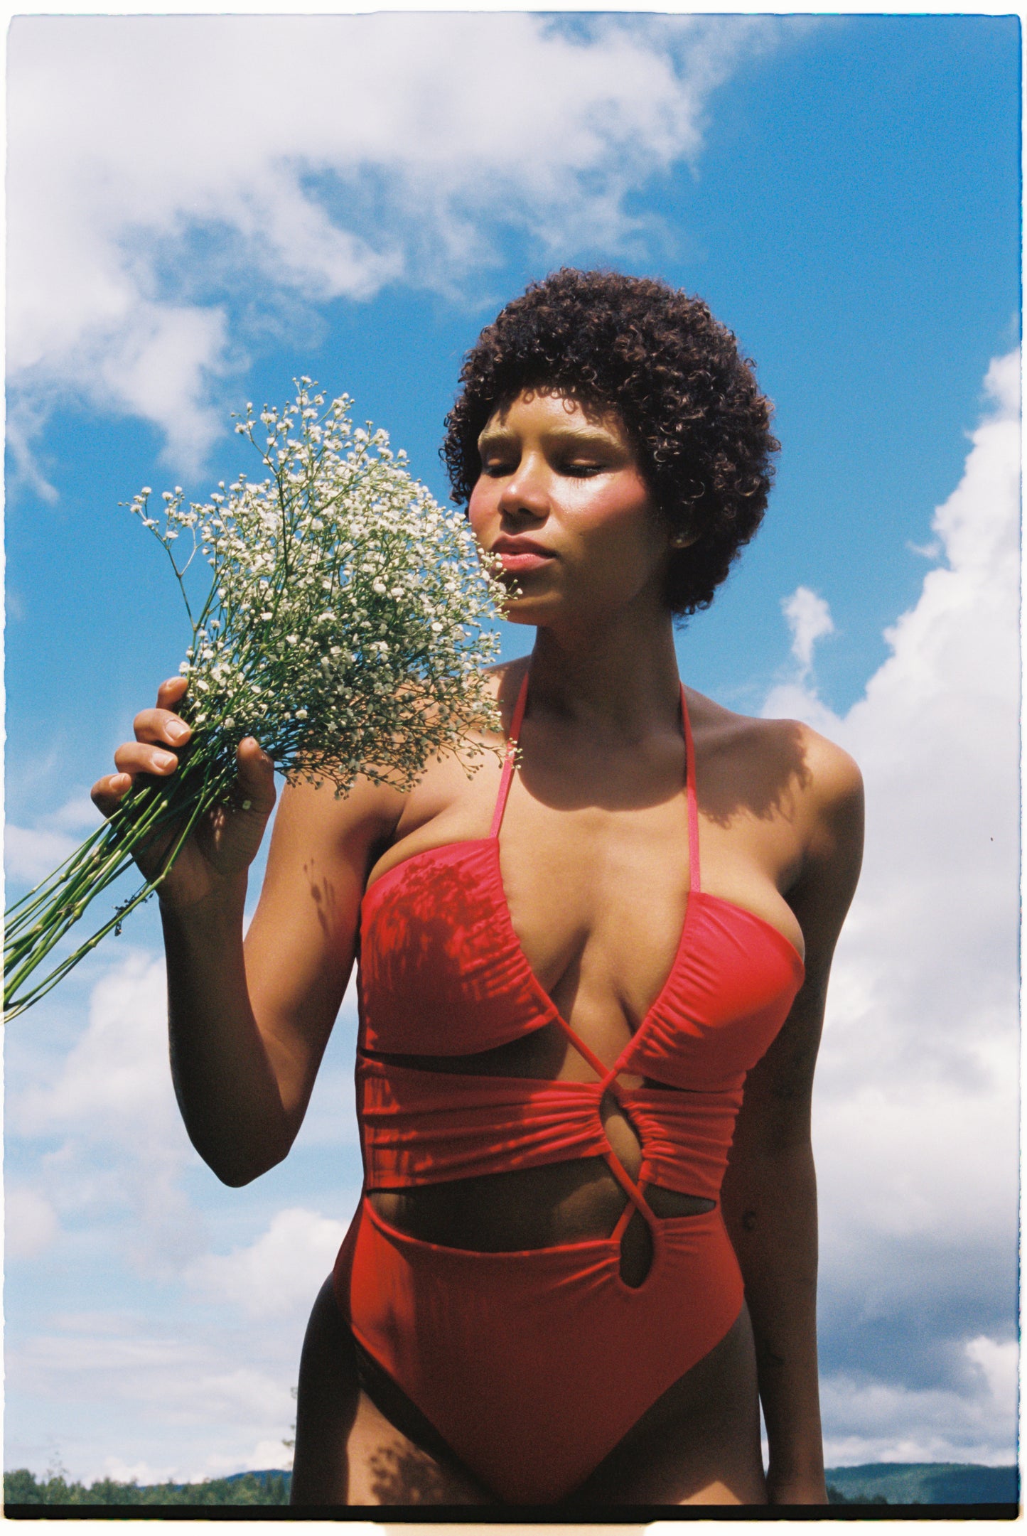
[[[177,487],[163,531],[150,531],[170,547],[187,528],[184,553],[209,556],[212,590],[183,664],[187,699],[203,699],[206,720],[227,733],[229,722],[259,717],[261,742],[286,773],[338,788],[359,773],[411,785],[439,751],[480,753],[468,731],[496,725],[479,668],[496,654],[482,624],[504,593],[482,571],[464,519],[411,479],[385,432],[353,430],[347,407],[339,396],[324,410],[322,396],[312,401],[298,384],[292,407],[261,413],[266,450],[247,407],[244,432],[266,478],[220,482],[190,510]],[[216,733],[209,750],[220,750]],[[229,742],[226,783],[233,751]]]

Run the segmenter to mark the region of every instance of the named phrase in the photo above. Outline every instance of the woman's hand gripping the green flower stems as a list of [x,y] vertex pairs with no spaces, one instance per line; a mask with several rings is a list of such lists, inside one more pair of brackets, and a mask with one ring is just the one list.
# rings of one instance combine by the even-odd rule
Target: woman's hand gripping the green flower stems
[[[186,688],[186,677],[170,677],[157,690],[157,707],[135,716],[135,740],[123,742],[114,754],[118,771],[98,779],[91,791],[103,816],[117,811],[137,774],[167,779],[177,771],[178,754],[187,750],[192,736],[192,728],[173,713]],[[275,770],[252,736],[239,742],[236,760],[235,805],[218,806],[193,828],[158,888],[166,908],[184,911],[246,883],[275,806]],[[160,874],[173,836],[167,833],[137,851],[135,862],[147,880]]]

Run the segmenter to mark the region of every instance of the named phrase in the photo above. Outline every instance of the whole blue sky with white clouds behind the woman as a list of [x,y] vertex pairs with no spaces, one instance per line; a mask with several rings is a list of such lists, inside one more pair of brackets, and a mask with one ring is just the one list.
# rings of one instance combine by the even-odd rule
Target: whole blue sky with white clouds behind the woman
[[[229,412],[296,373],[444,496],[459,359],[528,280],[702,293],[783,452],[682,676],[820,723],[870,791],[818,1089],[829,1459],[1007,1459],[1016,18],[25,17],[9,112],[9,889],[186,645],[120,501],[246,467]],[[8,1031],[9,1467],[216,1473],[287,1433],[359,1184],[352,1008],[247,1190],[187,1146],[160,1014],[146,908]]]

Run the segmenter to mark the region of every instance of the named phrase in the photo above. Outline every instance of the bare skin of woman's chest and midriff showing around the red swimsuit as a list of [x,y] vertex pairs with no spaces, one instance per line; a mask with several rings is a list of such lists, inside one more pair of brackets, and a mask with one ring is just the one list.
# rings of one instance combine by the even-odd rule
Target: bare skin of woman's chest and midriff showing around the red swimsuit
[[[511,665],[504,693],[516,693],[522,665]],[[788,753],[781,757],[777,737],[760,763],[764,722],[740,722],[705,702],[692,703],[697,713],[703,891],[743,917],[752,914],[786,940],[784,948],[801,951],[798,923],[780,894],[798,862],[783,785],[795,765],[788,763]],[[542,994],[594,1057],[611,1066],[671,977],[683,938],[689,900],[683,733],[679,723],[639,742],[589,739],[559,720],[533,720],[528,711],[520,746],[522,763],[499,828],[496,899]],[[491,760],[471,779],[457,763],[438,763],[408,797],[391,845],[370,871],[368,892],[408,860],[431,865],[433,849],[459,859],[461,845],[484,845],[497,790],[499,766]],[[714,814],[702,814],[708,809]],[[445,1055],[421,1054],[416,1028],[405,1035],[414,1049],[376,1052],[376,1058],[387,1068],[476,1078],[597,1080],[557,1023],[493,1049]],[[631,1072],[617,1081],[625,1089],[655,1086]],[[642,1163],[636,1129],[613,1095],[603,1100],[602,1114],[609,1146],[636,1178]],[[608,1236],[626,1200],[597,1157],[376,1189],[368,1198],[411,1236],[497,1252]],[[655,1183],[646,1183],[646,1198],[657,1217],[711,1204]],[[646,1263],[648,1230],[636,1217],[625,1233],[625,1278],[631,1281],[632,1269],[640,1278]]]

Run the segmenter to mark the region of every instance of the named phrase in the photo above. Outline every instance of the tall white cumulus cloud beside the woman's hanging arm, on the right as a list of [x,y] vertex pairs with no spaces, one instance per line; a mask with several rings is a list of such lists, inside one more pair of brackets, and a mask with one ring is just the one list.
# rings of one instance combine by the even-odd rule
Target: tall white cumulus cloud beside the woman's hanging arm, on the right
[[[798,680],[764,707],[852,751],[867,791],[815,1095],[824,1422],[844,1461],[887,1447],[993,1461],[1013,1444],[1016,353],[992,364],[986,393],[933,516],[941,562],[886,633],[864,697],[838,717]],[[804,667],[812,630],[801,654],[794,633]]]

